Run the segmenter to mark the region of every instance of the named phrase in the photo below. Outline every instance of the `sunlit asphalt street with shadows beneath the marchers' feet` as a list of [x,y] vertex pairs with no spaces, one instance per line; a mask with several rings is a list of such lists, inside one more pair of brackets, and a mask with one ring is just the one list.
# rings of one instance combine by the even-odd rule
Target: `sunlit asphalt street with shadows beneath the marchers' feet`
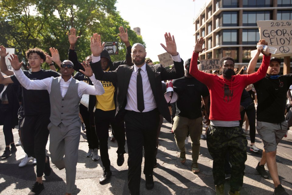
[[[157,162],[158,167],[154,169],[154,189],[147,190],[145,188],[145,176],[141,175],[140,192],[142,195],[148,194],[178,194],[178,195],[215,195],[215,186],[212,176],[212,158],[208,152],[206,140],[201,140],[201,150],[199,156],[199,174],[193,174],[191,171],[191,143],[186,145],[187,155],[186,163],[181,164],[179,161],[179,149],[174,140],[174,134],[170,133],[171,124],[164,121],[159,137]],[[203,133],[205,131],[203,130]],[[110,133],[110,131],[109,131]],[[17,141],[19,136],[17,129],[13,129],[14,140]],[[247,136],[249,140],[249,136]],[[262,141],[256,134],[256,146],[263,149]],[[49,150],[50,140],[47,144],[47,154]],[[250,141],[249,141],[250,144]],[[127,147],[126,147],[127,148]],[[0,126],[0,151],[1,155],[5,149],[4,134],[2,126]],[[103,174],[101,160],[92,161],[86,158],[88,151],[88,143],[86,135],[81,131],[80,144],[78,150],[78,164],[76,176],[76,188],[73,194],[87,195],[110,195],[110,194],[129,194],[127,189],[127,153],[125,154],[125,163],[122,166],[116,165],[117,143],[109,141],[109,157],[111,160],[111,170],[113,172],[109,182],[99,184],[99,177]],[[127,149],[126,149],[127,151]],[[32,161],[27,166],[19,168],[20,161],[24,158],[25,153],[21,146],[17,146],[17,152],[9,158],[0,160],[0,195],[26,195],[36,179],[36,166],[32,165]],[[245,176],[243,181],[242,195],[272,195],[273,181],[271,179],[263,179],[255,170],[258,161],[261,158],[261,151],[254,153],[247,151],[247,161],[245,163]],[[277,149],[277,165],[282,186],[292,195],[292,130],[288,133],[288,137],[278,145]],[[51,164],[52,173],[49,177],[44,176],[44,187],[41,195],[58,195],[65,194],[66,174],[65,170],[58,170]],[[142,171],[144,160],[142,162]],[[223,167],[222,167],[223,168]],[[266,167],[267,170],[267,167]],[[225,193],[229,190],[228,180],[225,183]]]

